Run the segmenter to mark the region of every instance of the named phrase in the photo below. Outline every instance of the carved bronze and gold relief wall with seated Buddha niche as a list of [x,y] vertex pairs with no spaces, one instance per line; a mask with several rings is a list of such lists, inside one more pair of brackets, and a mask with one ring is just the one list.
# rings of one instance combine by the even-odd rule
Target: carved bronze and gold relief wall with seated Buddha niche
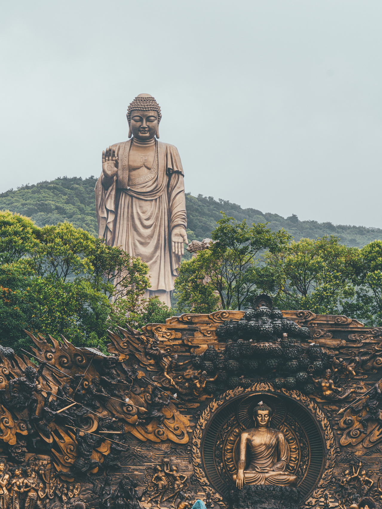
[[260,296],[120,328],[109,356],[0,347],[0,506],[379,506],[381,335]]

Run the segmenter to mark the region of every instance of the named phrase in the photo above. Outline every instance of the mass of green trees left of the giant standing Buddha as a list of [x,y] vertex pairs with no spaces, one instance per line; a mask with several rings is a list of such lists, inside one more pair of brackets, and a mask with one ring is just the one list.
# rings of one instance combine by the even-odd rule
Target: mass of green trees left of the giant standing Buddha
[[171,315],[158,299],[142,299],[150,287],[147,264],[69,223],[38,228],[0,212],[0,244],[6,262],[0,265],[0,340],[16,352],[30,343],[23,329],[105,351],[107,328],[126,321],[142,327],[149,317]]

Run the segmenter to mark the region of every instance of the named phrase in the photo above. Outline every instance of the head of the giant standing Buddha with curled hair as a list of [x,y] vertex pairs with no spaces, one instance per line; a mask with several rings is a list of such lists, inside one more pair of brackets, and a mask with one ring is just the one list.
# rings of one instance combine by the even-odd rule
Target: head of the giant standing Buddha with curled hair
[[127,109],[129,138],[134,136],[140,142],[148,142],[154,136],[159,138],[159,122],[162,117],[160,106],[150,94],[139,94]]

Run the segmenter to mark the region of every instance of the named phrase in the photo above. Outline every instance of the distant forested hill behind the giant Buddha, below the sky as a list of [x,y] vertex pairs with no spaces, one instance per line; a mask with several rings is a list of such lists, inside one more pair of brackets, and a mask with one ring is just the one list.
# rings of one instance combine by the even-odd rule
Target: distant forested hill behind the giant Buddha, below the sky
[[[63,177],[36,185],[24,185],[17,190],[10,189],[0,194],[0,210],[7,209],[31,217],[41,227],[67,220],[75,227],[84,228],[97,235],[94,197],[96,180],[93,176],[85,180]],[[186,208],[190,240],[208,237],[221,217],[221,210],[238,221],[246,219],[249,224],[268,221],[272,230],[285,228],[293,235],[294,240],[337,235],[344,244],[358,247],[376,239],[382,240],[382,230],[379,228],[300,221],[294,214],[284,218],[257,209],[242,209],[235,203],[216,201],[212,196],[202,194],[186,194]]]

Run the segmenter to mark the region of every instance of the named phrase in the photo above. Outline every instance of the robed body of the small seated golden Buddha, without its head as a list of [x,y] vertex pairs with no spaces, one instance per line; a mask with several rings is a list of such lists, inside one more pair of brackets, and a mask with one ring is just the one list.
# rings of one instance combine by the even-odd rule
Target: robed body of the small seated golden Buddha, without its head
[[241,433],[240,450],[242,448],[250,449],[251,462],[244,470],[245,484],[297,484],[297,477],[285,471],[290,452],[282,431],[271,428],[267,428],[266,433],[258,433],[256,428],[247,430]]

